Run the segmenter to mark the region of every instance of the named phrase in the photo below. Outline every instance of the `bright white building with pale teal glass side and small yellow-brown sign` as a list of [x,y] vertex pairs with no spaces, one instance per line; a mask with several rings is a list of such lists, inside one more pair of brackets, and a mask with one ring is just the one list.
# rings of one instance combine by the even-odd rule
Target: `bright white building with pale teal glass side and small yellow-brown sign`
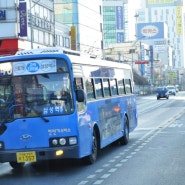
[[102,53],[101,0],[55,0],[55,19],[71,28],[71,49]]

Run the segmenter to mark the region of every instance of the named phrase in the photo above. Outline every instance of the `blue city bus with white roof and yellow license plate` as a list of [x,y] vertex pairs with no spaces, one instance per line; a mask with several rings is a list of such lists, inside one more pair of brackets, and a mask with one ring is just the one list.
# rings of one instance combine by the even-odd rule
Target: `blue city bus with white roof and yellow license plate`
[[0,57],[0,162],[96,161],[137,127],[130,65],[60,48]]

